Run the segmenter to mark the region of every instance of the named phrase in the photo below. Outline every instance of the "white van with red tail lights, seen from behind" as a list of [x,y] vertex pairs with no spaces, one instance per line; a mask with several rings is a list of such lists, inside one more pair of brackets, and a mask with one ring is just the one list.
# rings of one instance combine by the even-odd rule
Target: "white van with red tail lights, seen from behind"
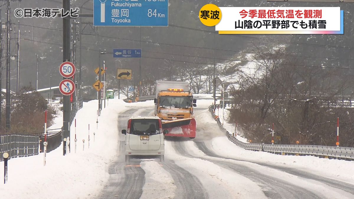
[[165,158],[164,135],[159,117],[131,117],[128,120],[127,130],[122,130],[125,136],[125,162],[131,158]]

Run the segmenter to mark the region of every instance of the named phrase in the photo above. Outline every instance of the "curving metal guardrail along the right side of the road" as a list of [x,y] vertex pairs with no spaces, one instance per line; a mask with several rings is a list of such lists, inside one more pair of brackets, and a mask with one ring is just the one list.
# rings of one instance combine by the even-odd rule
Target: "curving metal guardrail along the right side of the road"
[[[213,118],[215,113],[214,105],[209,107],[209,111]],[[229,134],[222,126],[220,119],[216,119],[219,129],[225,132],[226,136],[237,146],[247,150],[258,150],[281,155],[314,155],[320,158],[334,158],[343,160],[354,160],[353,147],[335,147],[335,146],[320,146],[320,145],[301,145],[301,144],[260,144],[260,143],[244,143],[237,140]]]

